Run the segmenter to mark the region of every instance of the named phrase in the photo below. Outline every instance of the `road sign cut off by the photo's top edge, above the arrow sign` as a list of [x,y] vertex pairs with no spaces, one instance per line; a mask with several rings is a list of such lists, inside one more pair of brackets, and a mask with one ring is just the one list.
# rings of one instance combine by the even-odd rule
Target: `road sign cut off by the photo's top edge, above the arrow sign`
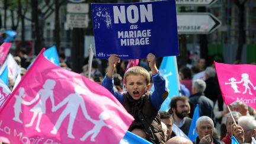
[[176,0],[176,5],[184,5],[184,6],[209,6],[216,2],[217,0],[200,0],[200,1],[194,1],[194,0]]

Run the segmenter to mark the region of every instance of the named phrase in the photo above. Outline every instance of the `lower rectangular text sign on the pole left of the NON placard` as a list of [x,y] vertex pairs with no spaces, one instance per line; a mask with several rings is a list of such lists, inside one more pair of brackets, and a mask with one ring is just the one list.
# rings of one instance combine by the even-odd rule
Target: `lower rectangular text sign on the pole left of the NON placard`
[[88,14],[67,14],[67,24],[73,28],[87,28],[89,23]]

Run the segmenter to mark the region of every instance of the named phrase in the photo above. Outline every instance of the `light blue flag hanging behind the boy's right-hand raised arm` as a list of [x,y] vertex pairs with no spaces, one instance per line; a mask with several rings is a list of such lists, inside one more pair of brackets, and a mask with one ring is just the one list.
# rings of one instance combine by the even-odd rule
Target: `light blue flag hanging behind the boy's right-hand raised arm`
[[163,73],[165,85],[169,89],[169,95],[162,103],[160,111],[168,111],[171,98],[180,95],[180,81],[178,80],[178,67],[176,56],[167,56],[162,59],[159,71]]

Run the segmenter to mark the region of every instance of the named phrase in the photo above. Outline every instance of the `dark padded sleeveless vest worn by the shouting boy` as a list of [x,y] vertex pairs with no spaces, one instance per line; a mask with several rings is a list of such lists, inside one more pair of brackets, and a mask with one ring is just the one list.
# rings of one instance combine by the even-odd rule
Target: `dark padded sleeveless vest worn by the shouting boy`
[[160,116],[151,103],[149,92],[142,95],[140,100],[133,100],[128,92],[124,93],[123,98],[124,108],[135,118],[129,131],[135,128],[143,129],[149,142],[164,144],[165,138]]

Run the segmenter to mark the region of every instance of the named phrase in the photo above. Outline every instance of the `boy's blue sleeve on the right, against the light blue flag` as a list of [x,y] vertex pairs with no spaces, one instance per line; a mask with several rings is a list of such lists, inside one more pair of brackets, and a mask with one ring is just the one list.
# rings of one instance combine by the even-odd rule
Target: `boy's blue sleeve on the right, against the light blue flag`
[[155,90],[151,94],[151,103],[158,111],[168,96],[168,89],[165,87],[165,78],[161,73],[152,76],[152,79]]

